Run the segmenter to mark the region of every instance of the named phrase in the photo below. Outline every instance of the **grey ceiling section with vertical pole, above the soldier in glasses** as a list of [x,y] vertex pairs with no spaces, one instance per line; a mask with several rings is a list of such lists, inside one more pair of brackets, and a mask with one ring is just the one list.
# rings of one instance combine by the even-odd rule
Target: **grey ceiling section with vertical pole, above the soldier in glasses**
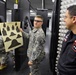
[[[42,5],[42,2],[43,2],[43,5]],[[30,4],[34,9],[44,8],[44,9],[52,10],[53,8],[52,0],[30,0]]]

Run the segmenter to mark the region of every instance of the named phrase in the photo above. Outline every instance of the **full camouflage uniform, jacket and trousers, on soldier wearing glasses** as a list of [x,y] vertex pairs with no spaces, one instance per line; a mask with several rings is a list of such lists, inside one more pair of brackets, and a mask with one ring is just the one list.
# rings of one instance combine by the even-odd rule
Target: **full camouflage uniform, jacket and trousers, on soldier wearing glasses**
[[29,34],[23,32],[23,34],[24,36],[29,38],[27,56],[29,58],[29,61],[33,62],[33,65],[30,66],[31,74],[40,75],[39,64],[45,56],[44,52],[45,34],[42,28],[33,29]]

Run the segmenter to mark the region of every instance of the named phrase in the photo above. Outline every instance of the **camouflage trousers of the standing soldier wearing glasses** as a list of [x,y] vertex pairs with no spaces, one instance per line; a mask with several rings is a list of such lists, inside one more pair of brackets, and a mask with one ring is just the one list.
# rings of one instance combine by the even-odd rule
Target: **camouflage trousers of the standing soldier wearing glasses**
[[41,75],[39,65],[39,63],[34,62],[32,66],[29,66],[31,75]]

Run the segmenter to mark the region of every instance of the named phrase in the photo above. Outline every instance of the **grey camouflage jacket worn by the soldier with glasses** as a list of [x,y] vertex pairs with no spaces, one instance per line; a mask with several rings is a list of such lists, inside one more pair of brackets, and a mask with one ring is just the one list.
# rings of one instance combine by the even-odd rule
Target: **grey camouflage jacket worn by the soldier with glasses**
[[42,28],[33,29],[29,34],[23,32],[23,35],[29,38],[29,45],[27,50],[27,56],[29,57],[29,61],[41,61],[45,56],[45,34]]

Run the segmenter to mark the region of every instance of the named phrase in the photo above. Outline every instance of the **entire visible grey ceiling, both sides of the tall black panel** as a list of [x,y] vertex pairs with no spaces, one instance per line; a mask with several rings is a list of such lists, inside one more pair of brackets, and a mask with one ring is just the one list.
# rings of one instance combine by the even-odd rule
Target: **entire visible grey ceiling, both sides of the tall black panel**
[[[8,2],[8,8],[12,7],[12,3],[15,3],[15,0],[6,0]],[[52,2],[52,0],[28,0],[30,5],[31,5],[31,9],[37,9],[37,8],[44,8],[44,9],[48,9],[48,10],[52,10],[53,9],[53,5],[54,3]],[[43,2],[43,5],[42,5]]]

